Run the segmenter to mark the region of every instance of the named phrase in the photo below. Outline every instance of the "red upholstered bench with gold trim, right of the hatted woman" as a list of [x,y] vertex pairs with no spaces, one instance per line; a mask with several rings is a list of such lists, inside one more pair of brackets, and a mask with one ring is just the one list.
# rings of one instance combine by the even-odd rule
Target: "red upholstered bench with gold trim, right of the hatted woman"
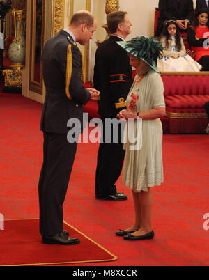
[[208,125],[209,72],[161,74],[169,133],[203,133]]

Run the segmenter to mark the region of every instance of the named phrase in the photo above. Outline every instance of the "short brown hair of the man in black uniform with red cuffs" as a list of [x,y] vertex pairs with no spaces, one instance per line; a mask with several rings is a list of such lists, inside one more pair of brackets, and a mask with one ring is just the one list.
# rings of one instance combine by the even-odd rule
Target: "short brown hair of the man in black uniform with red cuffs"
[[122,10],[117,10],[107,15],[107,26],[111,34],[116,33],[118,24],[124,21],[125,15],[127,15],[127,12],[123,12]]

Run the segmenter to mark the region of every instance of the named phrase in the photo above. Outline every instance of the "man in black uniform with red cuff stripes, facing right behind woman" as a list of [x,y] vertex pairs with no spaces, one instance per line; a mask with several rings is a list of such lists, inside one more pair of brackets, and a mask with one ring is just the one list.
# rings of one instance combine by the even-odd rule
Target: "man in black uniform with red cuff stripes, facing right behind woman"
[[[114,143],[112,130],[105,129],[106,120],[116,120],[116,115],[125,108],[125,100],[132,85],[132,69],[127,53],[116,44],[130,34],[132,24],[127,13],[117,11],[107,15],[111,36],[99,45],[95,54],[94,86],[100,91],[98,113],[102,118],[103,129],[98,150],[98,164],[95,178],[95,196],[101,200],[121,201],[127,196],[117,192],[116,181],[121,174],[125,150],[119,127],[118,143]],[[117,120],[116,120],[117,121]],[[108,136],[109,143],[105,138]],[[107,137],[107,138],[108,138]],[[102,143],[103,142],[103,143]]]

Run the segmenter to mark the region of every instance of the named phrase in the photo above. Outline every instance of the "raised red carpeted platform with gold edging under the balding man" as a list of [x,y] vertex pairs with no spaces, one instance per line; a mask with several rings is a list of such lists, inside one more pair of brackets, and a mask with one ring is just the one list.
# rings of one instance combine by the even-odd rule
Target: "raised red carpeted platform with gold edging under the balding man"
[[75,228],[67,224],[64,228],[70,231],[71,236],[79,238],[81,243],[73,246],[42,244],[38,233],[38,219],[5,221],[4,231],[0,231],[0,266],[61,265],[116,260],[116,256],[77,232]]

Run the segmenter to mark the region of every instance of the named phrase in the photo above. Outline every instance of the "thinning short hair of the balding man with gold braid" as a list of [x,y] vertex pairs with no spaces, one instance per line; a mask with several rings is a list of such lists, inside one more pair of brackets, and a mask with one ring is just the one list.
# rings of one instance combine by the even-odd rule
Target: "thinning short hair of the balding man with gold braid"
[[93,26],[95,17],[91,15],[87,10],[79,11],[72,15],[70,25],[79,26],[81,24],[87,24],[88,29]]

